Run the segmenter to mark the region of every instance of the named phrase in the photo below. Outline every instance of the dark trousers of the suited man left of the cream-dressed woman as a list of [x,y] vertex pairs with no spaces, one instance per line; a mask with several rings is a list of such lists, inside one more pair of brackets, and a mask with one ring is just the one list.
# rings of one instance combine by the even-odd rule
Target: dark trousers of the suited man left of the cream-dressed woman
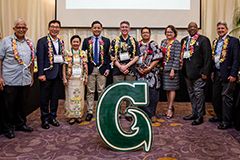
[[[40,81],[41,120],[48,121],[57,117],[59,88],[62,80],[57,77],[52,80]],[[49,108],[50,105],[50,108]]]

